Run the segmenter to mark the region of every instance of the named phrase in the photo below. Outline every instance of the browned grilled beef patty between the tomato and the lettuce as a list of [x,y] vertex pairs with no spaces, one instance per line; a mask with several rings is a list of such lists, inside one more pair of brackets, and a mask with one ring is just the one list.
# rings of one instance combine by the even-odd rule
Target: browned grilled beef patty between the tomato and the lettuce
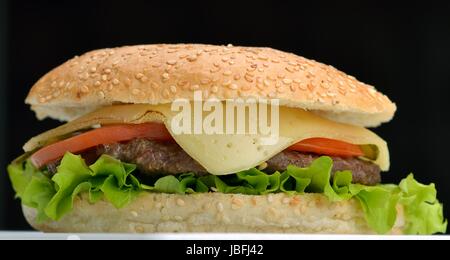
[[[206,175],[208,172],[192,159],[175,142],[158,142],[147,139],[134,139],[127,143],[105,144],[97,147],[97,155],[108,154],[124,162],[134,163],[143,174],[178,174],[195,172]],[[304,154],[297,151],[282,151],[267,161],[266,172],[284,171],[290,164],[307,167],[319,155]],[[371,162],[355,157],[331,157],[334,161],[332,174],[336,171],[350,170],[353,183],[375,185],[381,181],[380,168]]]

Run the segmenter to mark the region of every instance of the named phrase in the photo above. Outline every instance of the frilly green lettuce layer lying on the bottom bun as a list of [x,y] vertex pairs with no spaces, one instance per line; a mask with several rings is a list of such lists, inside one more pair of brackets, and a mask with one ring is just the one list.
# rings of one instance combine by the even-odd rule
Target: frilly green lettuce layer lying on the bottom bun
[[332,177],[332,166],[332,159],[322,156],[309,167],[290,165],[283,173],[267,174],[255,168],[226,176],[184,173],[142,184],[132,174],[136,169],[133,164],[102,155],[87,166],[80,156],[67,153],[52,178],[28,161],[9,165],[8,173],[16,196],[23,204],[38,210],[38,221],[60,219],[72,210],[74,199],[81,193],[87,193],[91,203],[104,198],[121,208],[143,191],[176,194],[218,191],[255,195],[306,192],[321,193],[330,201],[356,199],[368,225],[379,234],[389,232],[394,226],[397,205],[403,206],[407,234],[446,231],[447,221],[444,221],[442,204],[436,199],[434,184],[420,184],[412,174],[399,185],[353,184],[350,171],[338,171]]

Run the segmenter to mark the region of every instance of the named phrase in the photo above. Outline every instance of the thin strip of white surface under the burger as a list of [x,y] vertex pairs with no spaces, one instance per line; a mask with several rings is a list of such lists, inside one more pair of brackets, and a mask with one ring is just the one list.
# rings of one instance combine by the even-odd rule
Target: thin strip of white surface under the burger
[[450,240],[450,236],[379,236],[379,235],[307,235],[307,234],[249,234],[249,233],[156,233],[156,234],[70,234],[0,231],[0,240]]

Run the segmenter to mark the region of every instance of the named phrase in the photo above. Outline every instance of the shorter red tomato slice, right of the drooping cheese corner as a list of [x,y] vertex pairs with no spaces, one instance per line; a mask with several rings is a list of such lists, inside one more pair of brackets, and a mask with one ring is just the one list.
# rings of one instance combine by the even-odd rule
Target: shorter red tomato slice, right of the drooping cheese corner
[[290,146],[287,149],[299,152],[342,157],[364,155],[364,152],[358,145],[328,138],[308,138]]

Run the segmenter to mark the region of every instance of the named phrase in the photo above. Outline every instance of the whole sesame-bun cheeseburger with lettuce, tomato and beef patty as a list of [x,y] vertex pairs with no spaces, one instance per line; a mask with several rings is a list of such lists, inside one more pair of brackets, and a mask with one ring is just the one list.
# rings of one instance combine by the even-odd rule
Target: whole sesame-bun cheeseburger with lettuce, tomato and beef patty
[[[205,125],[213,110],[202,104],[211,100],[216,130],[252,100],[231,118],[245,131],[196,131],[195,113]],[[388,146],[366,127],[390,121],[395,104],[301,56],[200,44],[95,50],[44,75],[26,103],[39,119],[66,122],[31,138],[8,166],[38,230],[446,231],[434,184],[412,174],[381,183]],[[265,120],[252,104],[276,113]],[[268,122],[272,138],[247,131]]]

